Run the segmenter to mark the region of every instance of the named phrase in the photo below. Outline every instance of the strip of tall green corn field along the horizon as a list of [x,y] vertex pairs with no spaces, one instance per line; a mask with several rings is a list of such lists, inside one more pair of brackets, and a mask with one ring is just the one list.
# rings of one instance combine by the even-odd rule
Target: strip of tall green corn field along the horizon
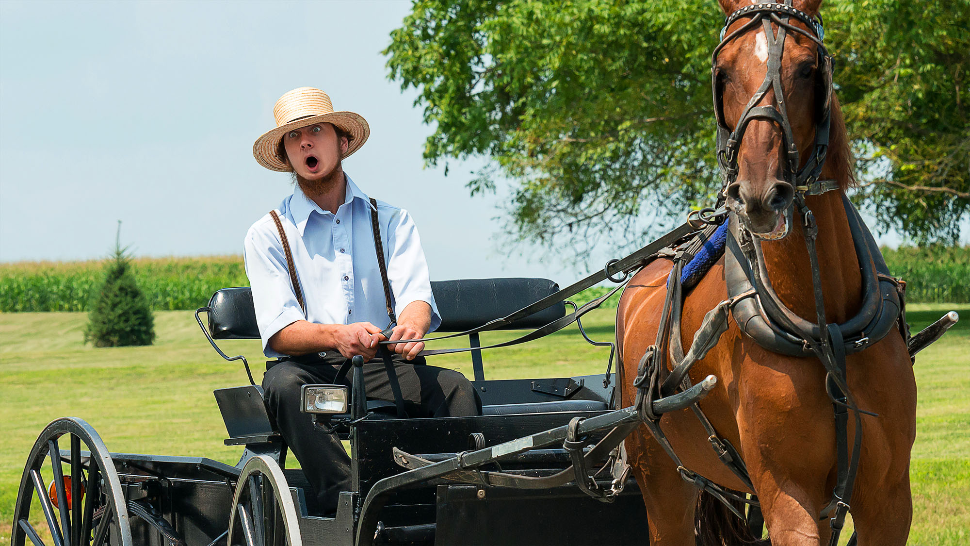
[[[970,247],[883,249],[889,271],[907,283],[907,300],[970,302]],[[104,278],[104,262],[16,262],[0,264],[0,312],[87,311]],[[137,258],[132,269],[152,309],[196,309],[212,292],[246,287],[242,256]],[[561,279],[565,286],[569,280]],[[611,287],[595,287],[572,298],[585,302]],[[616,306],[613,297],[604,306]]]

